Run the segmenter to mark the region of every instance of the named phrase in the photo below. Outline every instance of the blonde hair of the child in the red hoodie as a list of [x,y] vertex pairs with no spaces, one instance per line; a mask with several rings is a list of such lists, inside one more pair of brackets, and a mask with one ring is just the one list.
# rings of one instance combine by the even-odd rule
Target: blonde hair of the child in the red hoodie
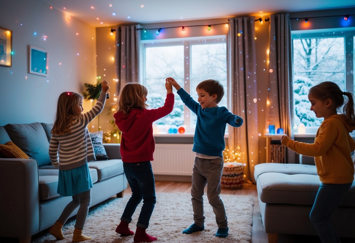
[[148,94],[146,87],[139,83],[128,83],[121,90],[117,102],[113,105],[112,111],[122,111],[125,115],[130,109],[146,109],[148,105],[142,97]]

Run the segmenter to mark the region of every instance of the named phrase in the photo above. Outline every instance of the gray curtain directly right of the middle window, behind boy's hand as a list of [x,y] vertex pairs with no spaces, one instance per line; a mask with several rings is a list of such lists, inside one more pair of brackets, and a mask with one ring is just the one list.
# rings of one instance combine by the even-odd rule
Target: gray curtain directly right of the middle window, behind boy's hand
[[[258,113],[254,17],[229,19],[227,35],[227,79],[230,111],[244,119],[240,128],[228,126],[229,158],[244,164],[245,182],[253,182],[258,163]],[[232,160],[233,161],[233,160]]]

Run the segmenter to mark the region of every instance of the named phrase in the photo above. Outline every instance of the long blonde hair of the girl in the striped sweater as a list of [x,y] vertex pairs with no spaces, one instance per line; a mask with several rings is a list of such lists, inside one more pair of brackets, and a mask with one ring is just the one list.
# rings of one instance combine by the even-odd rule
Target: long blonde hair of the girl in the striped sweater
[[75,111],[75,106],[82,99],[83,96],[76,92],[63,92],[59,95],[52,134],[64,135],[70,132],[73,118],[79,115]]

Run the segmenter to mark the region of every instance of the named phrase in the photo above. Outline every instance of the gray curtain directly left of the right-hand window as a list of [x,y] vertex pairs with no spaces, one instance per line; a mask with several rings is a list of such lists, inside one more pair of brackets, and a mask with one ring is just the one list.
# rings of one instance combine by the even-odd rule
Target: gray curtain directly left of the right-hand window
[[[266,117],[276,129],[283,128],[285,134],[293,138],[292,44],[288,13],[271,15],[269,60]],[[286,151],[285,161],[294,163],[295,153]]]

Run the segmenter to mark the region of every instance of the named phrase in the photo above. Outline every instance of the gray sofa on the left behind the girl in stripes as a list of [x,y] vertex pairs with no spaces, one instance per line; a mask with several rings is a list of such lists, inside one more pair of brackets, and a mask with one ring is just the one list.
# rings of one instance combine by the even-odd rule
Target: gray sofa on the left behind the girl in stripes
[[[12,141],[30,158],[0,158],[0,237],[30,243],[34,234],[54,224],[71,201],[57,193],[59,170],[48,155],[51,127],[46,123],[0,126],[0,144]],[[109,160],[88,163],[93,180],[91,207],[114,195],[122,197],[127,188],[119,145],[104,147]]]

